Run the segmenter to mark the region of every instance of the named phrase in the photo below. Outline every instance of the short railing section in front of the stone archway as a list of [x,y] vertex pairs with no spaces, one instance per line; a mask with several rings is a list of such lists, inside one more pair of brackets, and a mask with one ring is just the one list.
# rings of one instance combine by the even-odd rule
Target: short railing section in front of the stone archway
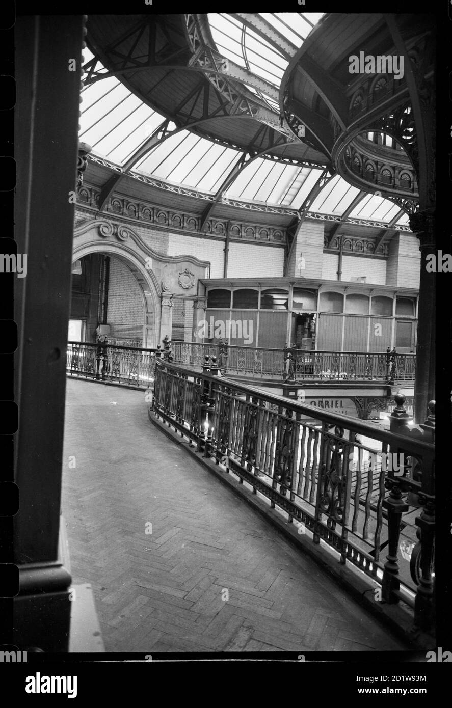
[[155,351],[105,342],[68,342],[66,371],[71,376],[147,387],[154,380]]

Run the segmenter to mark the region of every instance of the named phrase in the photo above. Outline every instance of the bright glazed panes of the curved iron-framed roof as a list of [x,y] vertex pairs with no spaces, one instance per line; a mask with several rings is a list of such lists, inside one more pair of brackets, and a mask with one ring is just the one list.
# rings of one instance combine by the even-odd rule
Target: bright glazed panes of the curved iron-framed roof
[[[261,16],[299,47],[322,14],[261,13]],[[227,14],[210,13],[208,18],[218,50],[278,89],[288,63],[280,52]],[[94,55],[86,48],[85,62],[93,58]],[[279,107],[271,98],[261,93],[259,96],[279,113]],[[94,154],[118,166],[123,166],[166,120],[142,103],[115,77],[86,86],[81,91],[81,98],[79,138],[91,145]],[[168,126],[169,130],[175,128],[174,123]],[[132,171],[215,194],[241,158],[242,152],[237,149],[217,144],[188,130],[179,130],[161,140],[151,152],[137,161]],[[222,197],[300,209],[321,174],[318,168],[257,158],[250,160],[238,172],[234,181],[222,192]],[[358,193],[357,188],[335,176],[317,195],[310,211],[340,217]],[[348,216],[389,223],[399,211],[394,202],[365,194]],[[397,224],[407,223],[407,215],[397,218]]]

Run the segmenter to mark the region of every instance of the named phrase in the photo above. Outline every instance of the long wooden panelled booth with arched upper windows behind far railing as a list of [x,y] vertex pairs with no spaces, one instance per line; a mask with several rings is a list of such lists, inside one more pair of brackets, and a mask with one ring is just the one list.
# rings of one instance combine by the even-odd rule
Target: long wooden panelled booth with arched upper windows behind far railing
[[301,350],[414,353],[418,291],[307,278],[201,280],[193,341]]

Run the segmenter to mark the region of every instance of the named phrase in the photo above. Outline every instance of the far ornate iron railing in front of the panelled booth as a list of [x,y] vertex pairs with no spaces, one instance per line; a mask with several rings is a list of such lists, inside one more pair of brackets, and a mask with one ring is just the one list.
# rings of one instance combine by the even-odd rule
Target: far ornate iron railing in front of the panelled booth
[[196,342],[172,342],[172,348],[174,362],[188,368],[200,370],[205,356],[216,356],[224,374],[289,381],[413,381],[416,364],[415,354],[398,354],[395,349],[386,353],[329,352]]

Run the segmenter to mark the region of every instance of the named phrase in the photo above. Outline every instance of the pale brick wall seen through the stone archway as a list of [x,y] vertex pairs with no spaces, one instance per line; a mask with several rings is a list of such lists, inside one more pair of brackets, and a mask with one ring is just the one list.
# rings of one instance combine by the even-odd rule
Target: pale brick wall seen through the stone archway
[[110,259],[107,322],[115,338],[142,338],[145,306],[140,286],[128,267],[114,257]]

